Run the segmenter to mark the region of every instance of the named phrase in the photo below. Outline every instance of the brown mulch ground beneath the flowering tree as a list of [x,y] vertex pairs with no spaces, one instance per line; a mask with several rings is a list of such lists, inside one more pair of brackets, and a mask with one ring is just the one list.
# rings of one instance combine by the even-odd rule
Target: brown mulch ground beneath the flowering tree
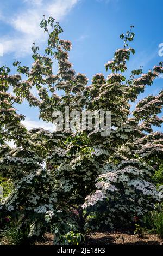
[[[54,235],[46,233],[43,241],[35,245],[53,245]],[[145,234],[143,237],[127,233],[95,232],[86,237],[84,245],[106,246],[106,245],[163,245],[163,239],[156,234]]]

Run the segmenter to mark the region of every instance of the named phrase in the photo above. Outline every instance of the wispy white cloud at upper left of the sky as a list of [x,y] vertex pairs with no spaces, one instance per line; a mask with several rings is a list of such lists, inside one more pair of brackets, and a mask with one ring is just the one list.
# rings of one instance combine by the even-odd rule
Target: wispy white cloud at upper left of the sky
[[24,0],[24,8],[14,13],[10,19],[0,15],[0,19],[14,28],[14,37],[1,38],[5,53],[14,52],[16,57],[26,56],[31,52],[33,42],[42,44],[46,35],[39,24],[45,14],[60,21],[79,0]]

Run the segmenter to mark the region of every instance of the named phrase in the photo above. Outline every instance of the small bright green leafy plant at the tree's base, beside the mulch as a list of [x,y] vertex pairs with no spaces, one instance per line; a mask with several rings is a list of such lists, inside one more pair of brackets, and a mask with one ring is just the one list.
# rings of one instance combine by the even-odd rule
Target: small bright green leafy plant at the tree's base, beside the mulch
[[79,245],[80,243],[84,242],[84,235],[70,231],[65,235],[61,235],[60,241],[64,245]]

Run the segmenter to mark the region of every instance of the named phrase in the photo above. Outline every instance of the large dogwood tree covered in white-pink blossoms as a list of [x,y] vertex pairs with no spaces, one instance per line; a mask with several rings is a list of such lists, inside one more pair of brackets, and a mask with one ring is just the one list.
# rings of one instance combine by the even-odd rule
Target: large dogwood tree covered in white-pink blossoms
[[[76,74],[68,61],[71,43],[59,38],[59,23],[44,17],[40,26],[48,34],[48,44],[43,55],[34,44],[32,67],[15,61],[18,74],[10,75],[5,66],[0,69],[1,174],[14,182],[0,209],[3,216],[17,216],[18,228],[28,230],[29,237],[39,236],[52,223],[55,243],[61,243],[61,234],[84,233],[92,213],[103,211],[105,224],[114,227],[117,216],[118,222],[131,221],[162,200],[162,191],[151,183],[150,176],[154,166],[162,163],[163,134],[153,132],[152,127],[162,124],[158,114],[163,91],[141,100],[134,111],[129,102],[135,102],[145,86],[163,73],[163,63],[146,74],[142,69],[133,70],[127,79],[123,73],[134,54],[128,46],[134,39],[130,30],[120,36],[123,48],[105,64],[111,70],[108,77],[96,74],[87,86],[86,76]],[[58,73],[54,75],[56,63]],[[14,94],[8,92],[9,86]],[[33,96],[33,87],[38,97]],[[64,95],[58,96],[58,90]],[[14,107],[25,99],[48,122],[54,122],[54,111],[64,112],[66,106],[70,111],[110,110],[111,133],[104,137],[99,130],[87,129],[28,131],[21,122],[24,116]],[[16,148],[9,147],[11,140]]]

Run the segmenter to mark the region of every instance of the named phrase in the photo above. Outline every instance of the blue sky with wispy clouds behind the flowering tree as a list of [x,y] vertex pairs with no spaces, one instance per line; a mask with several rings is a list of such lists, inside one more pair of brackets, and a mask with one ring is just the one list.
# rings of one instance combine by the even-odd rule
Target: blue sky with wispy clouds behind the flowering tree
[[[162,0],[5,0],[0,10],[0,43],[4,51],[0,64],[11,67],[15,58],[25,65],[32,63],[33,41],[40,49],[46,43],[46,36],[39,28],[45,14],[60,22],[64,29],[62,38],[72,41],[70,61],[73,68],[85,73],[90,82],[96,73],[107,75],[104,64],[112,59],[117,48],[122,47],[119,35],[130,25],[134,25],[135,40],[130,46],[135,48],[135,55],[128,63],[129,71],[142,65],[143,72],[147,72],[163,61],[163,56],[158,54],[158,46],[163,43],[162,9]],[[147,87],[139,99],[157,94],[163,88],[162,78]],[[28,103],[17,108],[26,115],[27,128],[51,129],[50,124],[39,121],[38,111],[29,109]]]

